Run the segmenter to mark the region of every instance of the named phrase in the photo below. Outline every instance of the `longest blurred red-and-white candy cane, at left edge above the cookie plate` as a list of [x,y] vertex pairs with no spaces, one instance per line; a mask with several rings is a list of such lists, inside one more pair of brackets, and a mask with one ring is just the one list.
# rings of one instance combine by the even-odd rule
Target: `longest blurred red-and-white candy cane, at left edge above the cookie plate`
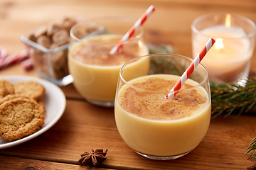
[[4,69],[5,67],[9,67],[12,64],[16,64],[17,62],[21,62],[23,60],[28,59],[28,52],[26,50],[22,50],[21,52],[17,52],[14,55],[9,55],[7,57],[0,59],[0,69]]

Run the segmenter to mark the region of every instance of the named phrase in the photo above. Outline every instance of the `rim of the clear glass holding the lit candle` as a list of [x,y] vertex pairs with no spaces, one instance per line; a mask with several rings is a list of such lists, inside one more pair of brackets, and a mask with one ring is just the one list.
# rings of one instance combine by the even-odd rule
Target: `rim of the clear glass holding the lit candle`
[[200,35],[204,35],[206,37],[210,37],[210,35],[208,34],[205,34],[205,33],[202,33],[201,30],[198,30],[196,28],[196,24],[200,21],[202,21],[203,19],[209,17],[209,16],[228,16],[230,15],[231,17],[236,17],[236,18],[239,18],[240,20],[243,20],[243,21],[246,21],[248,24],[250,24],[250,26],[252,26],[253,28],[253,31],[247,35],[244,35],[244,36],[241,36],[241,37],[238,37],[238,38],[228,38],[228,37],[215,37],[213,36],[212,38],[225,38],[226,40],[234,40],[234,39],[242,39],[242,38],[251,38],[253,36],[256,35],[256,25],[255,23],[250,20],[250,18],[247,18],[245,16],[241,16],[241,15],[238,15],[238,14],[235,14],[235,13],[206,13],[206,14],[203,14],[201,16],[198,16],[196,19],[193,20],[193,22],[191,23],[191,30],[193,31],[193,33],[196,33],[196,34],[200,34]]

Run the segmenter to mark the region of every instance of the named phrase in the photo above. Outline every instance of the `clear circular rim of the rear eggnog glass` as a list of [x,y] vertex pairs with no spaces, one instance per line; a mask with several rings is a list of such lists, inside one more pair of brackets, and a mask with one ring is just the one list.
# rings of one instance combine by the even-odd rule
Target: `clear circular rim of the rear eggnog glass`
[[[86,35],[84,38],[87,39],[87,38],[91,38],[92,36],[94,35],[97,35],[97,33],[103,33],[105,28],[104,26],[100,26],[99,24],[95,23],[94,21],[96,20],[102,20],[102,21],[107,21],[107,20],[111,20],[111,21],[124,21],[126,23],[132,23],[132,26],[134,23],[136,23],[136,20],[132,19],[132,18],[124,18],[124,17],[119,17],[119,16],[102,16],[102,17],[95,17],[95,18],[89,18],[87,19],[85,22],[82,22],[82,23],[76,23],[75,26],[73,26],[71,29],[70,29],[70,37],[73,38],[74,40],[78,41],[78,42],[83,42],[85,43],[82,39],[80,38],[77,38],[74,34],[73,34],[73,31],[74,29],[79,26],[80,24],[85,24],[85,23],[90,23],[92,25],[97,25],[100,27],[100,30],[98,31],[95,31],[95,32],[92,32],[90,33],[89,35]],[[131,27],[132,27],[131,26]],[[122,43],[127,43],[127,42],[131,42],[133,40],[139,40],[140,38],[142,38],[142,35],[144,33],[144,29],[143,29],[143,26],[140,26],[140,28],[138,29],[140,30],[140,33],[132,38],[129,38],[129,40],[125,40],[123,41]],[[128,30],[125,30],[127,33]],[[125,35],[122,34],[122,36]],[[107,35],[107,34],[103,34],[103,35]],[[119,35],[119,34],[118,34]],[[112,43],[93,43],[93,42],[86,42],[87,44],[91,44],[91,45],[117,45],[119,44],[119,42],[112,42]]]

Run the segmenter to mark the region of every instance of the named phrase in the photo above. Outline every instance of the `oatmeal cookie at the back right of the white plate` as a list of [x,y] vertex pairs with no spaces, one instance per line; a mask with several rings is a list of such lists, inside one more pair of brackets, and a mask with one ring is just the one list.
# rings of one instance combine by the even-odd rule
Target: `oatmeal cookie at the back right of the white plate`
[[45,89],[42,84],[36,81],[20,81],[14,83],[14,93],[39,101],[43,97]]

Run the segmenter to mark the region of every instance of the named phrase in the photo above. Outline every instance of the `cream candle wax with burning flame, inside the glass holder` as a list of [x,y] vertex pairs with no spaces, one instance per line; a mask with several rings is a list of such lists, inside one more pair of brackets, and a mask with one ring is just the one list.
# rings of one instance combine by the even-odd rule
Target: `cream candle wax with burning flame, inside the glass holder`
[[215,45],[202,60],[209,79],[217,83],[234,83],[249,74],[254,41],[241,26],[231,26],[230,15],[222,25],[210,26],[193,33],[193,57],[196,57],[208,37],[215,38]]

